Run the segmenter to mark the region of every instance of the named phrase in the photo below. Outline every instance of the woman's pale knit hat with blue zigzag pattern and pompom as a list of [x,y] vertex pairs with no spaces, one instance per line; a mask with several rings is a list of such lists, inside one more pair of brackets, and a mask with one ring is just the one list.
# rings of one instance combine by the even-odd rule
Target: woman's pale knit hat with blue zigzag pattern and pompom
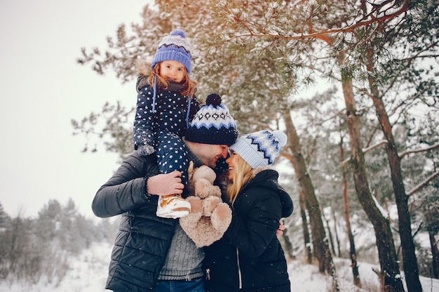
[[281,153],[281,147],[287,144],[287,135],[283,131],[257,131],[243,135],[236,140],[230,150],[241,156],[253,169],[269,166]]

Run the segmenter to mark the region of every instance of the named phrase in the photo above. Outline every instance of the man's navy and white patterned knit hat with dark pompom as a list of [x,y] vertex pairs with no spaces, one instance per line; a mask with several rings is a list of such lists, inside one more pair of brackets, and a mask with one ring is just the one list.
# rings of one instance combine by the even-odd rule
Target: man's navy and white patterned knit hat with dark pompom
[[236,123],[216,93],[208,95],[187,129],[186,140],[211,145],[232,145],[238,138]]

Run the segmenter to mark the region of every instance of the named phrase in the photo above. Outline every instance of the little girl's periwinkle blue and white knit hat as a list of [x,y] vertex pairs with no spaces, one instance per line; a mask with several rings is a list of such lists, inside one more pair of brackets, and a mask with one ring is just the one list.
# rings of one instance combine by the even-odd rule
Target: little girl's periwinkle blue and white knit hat
[[170,35],[165,36],[158,44],[156,55],[152,60],[151,68],[158,62],[173,60],[186,67],[187,74],[191,72],[191,46],[182,29],[174,29]]

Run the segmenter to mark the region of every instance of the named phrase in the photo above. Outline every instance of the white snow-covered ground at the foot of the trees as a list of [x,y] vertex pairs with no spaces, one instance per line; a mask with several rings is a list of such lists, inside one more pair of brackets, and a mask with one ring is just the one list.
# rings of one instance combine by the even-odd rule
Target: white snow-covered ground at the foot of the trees
[[[47,279],[34,285],[3,280],[0,281],[0,292],[107,291],[103,287],[107,279],[111,249],[110,244],[94,244],[90,249],[83,251],[78,258],[71,260],[71,269],[59,284],[48,283]],[[337,259],[336,266],[341,292],[378,291],[377,277],[372,272],[373,265],[360,263],[360,278],[363,289],[358,289],[351,283],[349,261]],[[291,291],[327,292],[332,290],[332,279],[320,274],[315,265],[304,265],[301,260],[294,260],[289,264],[288,272],[291,280]],[[439,292],[439,280],[437,279],[421,277],[421,284],[424,292]]]

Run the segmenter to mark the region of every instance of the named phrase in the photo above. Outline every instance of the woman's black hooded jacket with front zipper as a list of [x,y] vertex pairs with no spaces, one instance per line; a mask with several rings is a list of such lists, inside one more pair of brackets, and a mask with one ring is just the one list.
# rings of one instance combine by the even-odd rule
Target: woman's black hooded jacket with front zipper
[[263,170],[238,194],[229,229],[207,250],[209,292],[290,292],[276,230],[279,220],[291,215],[293,205],[277,179],[276,171]]

